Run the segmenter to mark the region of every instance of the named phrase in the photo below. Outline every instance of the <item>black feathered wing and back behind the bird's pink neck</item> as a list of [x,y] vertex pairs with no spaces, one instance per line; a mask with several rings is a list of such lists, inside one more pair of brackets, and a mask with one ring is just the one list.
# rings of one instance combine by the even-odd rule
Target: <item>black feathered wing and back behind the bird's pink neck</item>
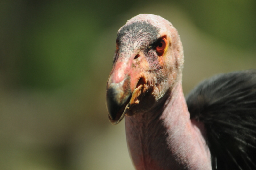
[[191,119],[203,122],[213,170],[256,169],[256,70],[220,74],[186,98]]

